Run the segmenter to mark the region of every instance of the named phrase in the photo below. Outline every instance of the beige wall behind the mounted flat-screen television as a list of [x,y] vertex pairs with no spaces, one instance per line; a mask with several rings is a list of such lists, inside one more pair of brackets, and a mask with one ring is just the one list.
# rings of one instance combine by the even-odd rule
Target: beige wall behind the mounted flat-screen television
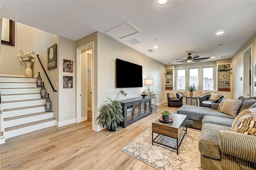
[[[116,58],[141,65],[142,78],[154,79],[154,85],[150,86],[150,90],[158,94],[157,102],[163,101],[165,65],[98,32],[98,107],[106,97],[119,97],[120,100],[119,88],[116,88]],[[124,88],[127,92],[126,98],[140,97],[146,88]]]

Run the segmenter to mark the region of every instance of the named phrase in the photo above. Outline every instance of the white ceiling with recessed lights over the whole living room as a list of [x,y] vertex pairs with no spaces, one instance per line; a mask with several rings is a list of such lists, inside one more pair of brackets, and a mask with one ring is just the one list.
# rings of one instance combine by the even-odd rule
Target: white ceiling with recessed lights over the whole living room
[[[205,61],[230,58],[256,33],[255,0],[169,0],[164,5],[157,0],[1,0],[0,5],[5,8],[1,18],[71,40],[130,22],[141,32],[119,41],[163,64],[186,58],[186,51],[216,57]],[[215,35],[220,30],[224,34]],[[141,43],[126,42],[132,38]]]

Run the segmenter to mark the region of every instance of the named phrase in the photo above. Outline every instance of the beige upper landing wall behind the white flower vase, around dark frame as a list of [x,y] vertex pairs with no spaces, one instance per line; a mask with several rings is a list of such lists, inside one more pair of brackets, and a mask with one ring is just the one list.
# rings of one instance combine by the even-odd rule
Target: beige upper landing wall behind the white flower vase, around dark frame
[[1,44],[0,74],[23,76],[26,65],[23,62],[19,62],[17,54],[19,52],[18,49],[34,50],[32,45],[32,27],[14,22],[14,37],[15,46]]

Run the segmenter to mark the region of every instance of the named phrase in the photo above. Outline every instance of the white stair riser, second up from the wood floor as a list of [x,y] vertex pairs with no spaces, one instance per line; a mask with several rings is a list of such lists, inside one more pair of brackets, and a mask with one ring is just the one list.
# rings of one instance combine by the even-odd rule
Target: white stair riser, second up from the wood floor
[[40,115],[36,115],[36,116],[30,116],[30,117],[26,117],[26,118],[4,121],[4,128],[8,128],[11,126],[17,126],[17,125],[21,125],[21,124],[25,124],[25,123],[30,123],[30,122],[35,122],[38,120],[43,120],[43,119],[48,119],[48,118],[53,118],[53,112],[49,112],[46,114],[40,114]]

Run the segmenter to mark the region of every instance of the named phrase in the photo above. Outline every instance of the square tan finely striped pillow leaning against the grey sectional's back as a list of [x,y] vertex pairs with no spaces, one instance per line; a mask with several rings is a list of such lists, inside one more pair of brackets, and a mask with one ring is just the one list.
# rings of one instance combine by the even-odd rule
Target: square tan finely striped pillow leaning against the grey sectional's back
[[236,116],[241,104],[242,100],[230,100],[226,98],[223,103],[223,106],[220,109],[220,112],[226,113],[231,116]]

